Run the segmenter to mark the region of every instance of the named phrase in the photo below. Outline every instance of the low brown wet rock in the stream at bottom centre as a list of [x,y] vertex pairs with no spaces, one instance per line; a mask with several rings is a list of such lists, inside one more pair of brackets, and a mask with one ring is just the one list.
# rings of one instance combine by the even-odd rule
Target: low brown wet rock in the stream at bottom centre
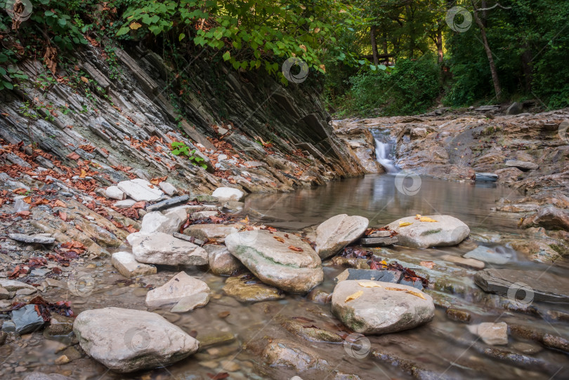
[[318,358],[318,354],[309,348],[292,341],[274,340],[263,350],[263,358],[273,367],[288,367],[304,372],[308,369],[326,369],[328,362]]

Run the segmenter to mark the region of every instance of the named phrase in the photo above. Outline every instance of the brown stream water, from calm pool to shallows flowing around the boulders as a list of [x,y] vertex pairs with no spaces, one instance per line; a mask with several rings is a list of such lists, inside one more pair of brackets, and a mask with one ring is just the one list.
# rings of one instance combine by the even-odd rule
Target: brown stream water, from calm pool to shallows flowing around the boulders
[[[474,271],[445,266],[445,262],[440,260],[441,255],[462,255],[476,245],[487,244],[513,254],[511,262],[504,264],[506,267],[532,266],[533,269],[541,268],[544,272],[565,274],[566,277],[569,273],[566,264],[547,268],[529,262],[509,247],[492,243],[496,236],[518,233],[514,219],[491,211],[497,199],[515,198],[518,194],[501,186],[476,186],[421,178],[419,191],[411,196],[403,194],[405,191],[398,191],[395,179],[395,175],[369,175],[332,182],[315,189],[301,189],[290,194],[253,194],[246,198],[244,214],[256,222],[294,230],[318,224],[340,213],[362,215],[369,219],[370,225],[376,226],[408,215],[453,215],[469,224],[473,232],[471,240],[458,247],[413,250],[395,246],[374,251],[388,262],[398,261],[436,279],[440,285],[436,290],[429,290],[436,302],[469,311],[472,315],[471,324],[504,321],[509,325],[529,325],[554,336],[568,337],[566,322],[544,320],[540,316],[551,309],[567,312],[566,305],[551,306],[535,302],[538,313],[506,310],[500,304],[499,297],[490,297],[473,284],[471,278]],[[404,185],[407,188],[413,186]],[[432,260],[438,266],[434,270],[426,270],[419,265],[422,260]],[[95,278],[93,292],[84,297],[76,297],[61,291],[59,294],[51,294],[50,299],[70,299],[76,313],[103,306],[146,310],[144,300],[148,285],[162,285],[174,273],[183,269],[208,283],[212,290],[211,301],[204,308],[190,313],[174,314],[167,308],[155,311],[200,341],[218,339],[220,342],[204,347],[199,353],[167,368],[121,375],[108,372],[105,367],[89,358],[77,359],[65,366],[53,365],[54,360],[66,352],[60,350],[67,346],[67,342],[41,339],[39,333],[35,333],[22,340],[20,347],[13,348],[13,351],[6,352],[6,348],[2,349],[2,379],[20,378],[13,372],[16,365],[37,368],[47,373],[65,373],[78,380],[222,379],[225,375],[221,374],[225,372],[228,372],[230,380],[290,379],[297,375],[294,370],[264,364],[260,353],[262,346],[275,339],[294,341],[325,360],[328,368],[344,374],[357,374],[360,379],[414,377],[529,380],[567,379],[569,376],[569,360],[565,353],[544,348],[535,341],[517,336],[511,336],[507,346],[514,354],[496,351],[505,347],[492,348],[480,343],[469,332],[466,323],[449,318],[440,307],[436,310],[435,319],[427,325],[394,334],[369,336],[369,349],[365,346],[346,349],[343,344],[303,340],[282,327],[285,320],[301,317],[307,320],[306,325],[315,325],[340,334],[341,325],[332,315],[329,304],[318,304],[294,294],[287,294],[278,301],[242,304],[221,290],[225,278],[214,276],[205,269],[159,267],[156,275],[144,276],[143,282],[131,282],[125,281],[110,266],[109,261],[96,261],[95,265],[86,263],[85,271]],[[343,270],[332,266],[330,261],[325,262],[325,282],[318,288],[331,292],[334,289],[333,278]],[[229,339],[225,338],[224,341],[223,337]],[[302,362],[303,359],[298,360]],[[328,373],[326,377],[322,376],[322,372],[308,370],[299,375],[304,380],[348,379],[341,374],[335,376],[334,372]]]

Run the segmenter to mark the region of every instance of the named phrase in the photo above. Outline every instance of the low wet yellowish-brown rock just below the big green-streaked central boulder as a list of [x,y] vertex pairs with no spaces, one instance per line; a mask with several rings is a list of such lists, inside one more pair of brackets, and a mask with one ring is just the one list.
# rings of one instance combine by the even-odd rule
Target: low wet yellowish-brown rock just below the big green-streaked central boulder
[[249,276],[230,277],[225,280],[223,292],[240,302],[270,301],[283,299],[284,293],[276,287],[268,286]]

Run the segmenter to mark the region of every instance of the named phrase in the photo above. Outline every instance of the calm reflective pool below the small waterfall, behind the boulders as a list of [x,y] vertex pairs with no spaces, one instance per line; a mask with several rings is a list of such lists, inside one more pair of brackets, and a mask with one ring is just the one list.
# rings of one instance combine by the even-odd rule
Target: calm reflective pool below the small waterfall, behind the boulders
[[471,228],[514,231],[513,219],[498,215],[491,208],[499,198],[518,196],[518,191],[506,186],[480,186],[430,177],[421,177],[421,188],[409,196],[395,188],[395,175],[367,175],[289,194],[252,194],[245,204],[251,217],[260,213],[263,221],[290,229],[319,224],[346,213],[367,217],[370,225],[384,225],[415,214],[444,214],[461,219]]

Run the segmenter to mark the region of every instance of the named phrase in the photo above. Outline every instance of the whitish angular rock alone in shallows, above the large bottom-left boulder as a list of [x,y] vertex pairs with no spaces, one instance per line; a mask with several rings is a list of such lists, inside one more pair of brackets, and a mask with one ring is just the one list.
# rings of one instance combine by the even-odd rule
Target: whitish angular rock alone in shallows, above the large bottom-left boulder
[[180,272],[161,287],[150,290],[150,292],[146,294],[146,305],[159,307],[167,304],[175,304],[185,297],[194,296],[202,292],[207,294],[211,292],[207,283],[195,277],[188,276],[185,272]]

